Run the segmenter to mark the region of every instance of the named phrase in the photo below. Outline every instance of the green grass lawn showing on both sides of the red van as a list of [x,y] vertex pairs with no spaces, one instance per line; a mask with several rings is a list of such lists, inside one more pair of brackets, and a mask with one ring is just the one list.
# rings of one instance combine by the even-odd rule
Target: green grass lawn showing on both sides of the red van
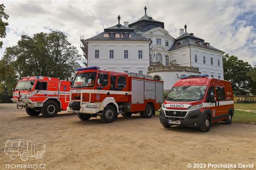
[[[156,111],[156,115],[159,115],[159,111]],[[236,123],[256,124],[256,113],[235,110],[232,121]]]

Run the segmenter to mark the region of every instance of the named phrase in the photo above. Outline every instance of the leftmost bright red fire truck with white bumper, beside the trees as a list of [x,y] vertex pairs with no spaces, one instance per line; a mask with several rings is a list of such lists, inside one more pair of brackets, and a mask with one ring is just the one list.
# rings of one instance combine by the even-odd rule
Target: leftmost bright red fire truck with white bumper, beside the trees
[[55,117],[69,104],[70,81],[51,77],[25,77],[18,81],[13,98],[18,109],[31,116]]

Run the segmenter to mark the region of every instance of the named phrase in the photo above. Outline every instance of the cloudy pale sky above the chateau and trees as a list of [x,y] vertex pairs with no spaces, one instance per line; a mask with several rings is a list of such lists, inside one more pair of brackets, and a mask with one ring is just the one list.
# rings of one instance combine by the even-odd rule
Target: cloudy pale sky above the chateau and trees
[[147,6],[147,15],[164,22],[172,37],[178,37],[179,29],[186,24],[187,32],[256,65],[256,0],[1,0],[0,3],[9,15],[0,58],[6,47],[17,44],[21,35],[52,30],[64,32],[82,55],[80,36],[87,39],[116,25],[118,15],[121,24],[133,23],[144,15]]

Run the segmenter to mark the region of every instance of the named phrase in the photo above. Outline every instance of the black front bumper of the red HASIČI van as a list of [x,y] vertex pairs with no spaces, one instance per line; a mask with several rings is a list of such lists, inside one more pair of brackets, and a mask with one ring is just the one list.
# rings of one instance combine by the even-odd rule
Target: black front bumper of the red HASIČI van
[[165,125],[177,125],[177,124],[170,124],[169,120],[172,120],[172,121],[179,120],[180,126],[199,127],[201,126],[202,119],[203,119],[203,113],[199,110],[188,111],[184,118],[180,118],[180,117],[166,116],[165,111],[163,110],[163,108],[161,108],[160,115],[159,115],[160,123]]

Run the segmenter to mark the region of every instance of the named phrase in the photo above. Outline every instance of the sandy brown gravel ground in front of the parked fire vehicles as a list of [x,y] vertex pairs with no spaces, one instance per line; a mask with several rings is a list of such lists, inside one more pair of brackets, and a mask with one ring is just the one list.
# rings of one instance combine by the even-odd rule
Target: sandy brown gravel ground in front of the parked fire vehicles
[[[30,117],[15,104],[0,104],[0,169],[5,164],[45,164],[46,169],[186,169],[187,164],[254,164],[256,125],[214,124],[210,132],[174,126],[159,118],[120,115],[112,124],[62,112],[55,118]],[[4,153],[6,140],[25,139],[46,145],[43,158]]]

